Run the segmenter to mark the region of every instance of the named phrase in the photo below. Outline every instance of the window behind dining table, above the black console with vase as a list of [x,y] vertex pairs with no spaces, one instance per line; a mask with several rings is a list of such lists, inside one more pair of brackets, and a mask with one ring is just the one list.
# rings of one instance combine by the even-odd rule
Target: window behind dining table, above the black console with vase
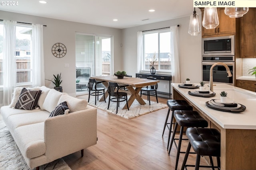
[[153,66],[156,70],[170,72],[170,30],[143,33],[143,42],[144,70],[150,70],[152,63],[154,63]]

